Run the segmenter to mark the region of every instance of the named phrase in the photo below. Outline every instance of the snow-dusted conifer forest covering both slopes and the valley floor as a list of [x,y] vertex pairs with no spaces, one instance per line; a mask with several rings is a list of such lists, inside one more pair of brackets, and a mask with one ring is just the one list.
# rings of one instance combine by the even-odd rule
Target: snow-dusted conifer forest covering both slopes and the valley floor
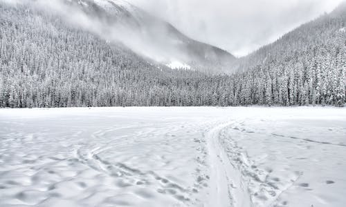
[[234,61],[172,70],[48,12],[0,3],[0,107],[344,106],[345,4]]

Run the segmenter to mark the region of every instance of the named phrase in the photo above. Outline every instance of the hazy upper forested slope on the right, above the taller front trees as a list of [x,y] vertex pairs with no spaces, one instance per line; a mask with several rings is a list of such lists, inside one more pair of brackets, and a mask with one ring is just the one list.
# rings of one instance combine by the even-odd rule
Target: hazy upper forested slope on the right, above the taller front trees
[[[343,1],[330,14],[304,23],[277,41],[263,46],[246,57],[233,62],[233,70],[246,71],[257,66],[271,67],[273,61],[287,66],[286,61],[297,57],[307,59],[317,55],[318,50],[345,51],[346,1]],[[330,51],[328,51],[330,52]],[[320,57],[325,56],[323,54]],[[325,56],[326,57],[326,56]],[[297,62],[297,61],[296,61]]]

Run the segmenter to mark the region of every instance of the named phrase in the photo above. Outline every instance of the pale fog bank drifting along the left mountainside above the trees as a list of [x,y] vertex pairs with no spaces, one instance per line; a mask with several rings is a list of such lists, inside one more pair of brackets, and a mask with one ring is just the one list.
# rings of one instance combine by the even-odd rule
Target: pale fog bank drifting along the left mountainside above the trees
[[[10,2],[10,0],[1,1]],[[160,22],[152,22],[150,30],[144,30],[145,28],[139,28],[136,22],[131,22],[131,19],[110,21],[110,19],[102,18],[105,17],[102,16],[104,14],[99,16],[99,14],[86,13],[81,6],[72,6],[66,2],[62,0],[21,0],[10,3],[29,3],[39,10],[53,12],[75,28],[89,31],[109,43],[117,45],[121,43],[136,54],[154,61],[169,63],[188,59],[172,46],[173,43],[167,42],[167,38],[165,38],[168,36],[167,28]],[[160,35],[153,37],[152,34]]]

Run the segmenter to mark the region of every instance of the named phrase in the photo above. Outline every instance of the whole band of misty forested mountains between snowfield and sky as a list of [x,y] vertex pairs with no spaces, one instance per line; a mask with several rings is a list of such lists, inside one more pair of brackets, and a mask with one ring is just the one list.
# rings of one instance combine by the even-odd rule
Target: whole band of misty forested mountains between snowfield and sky
[[345,103],[345,3],[241,59],[126,1],[0,11],[0,107]]

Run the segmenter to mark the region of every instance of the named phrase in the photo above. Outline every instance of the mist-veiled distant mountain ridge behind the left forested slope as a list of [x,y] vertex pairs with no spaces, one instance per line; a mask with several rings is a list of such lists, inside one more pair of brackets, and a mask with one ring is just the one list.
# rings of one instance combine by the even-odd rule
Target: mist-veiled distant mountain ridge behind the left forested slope
[[235,60],[228,52],[186,37],[170,23],[127,1],[38,0],[35,4],[57,12],[69,23],[106,41],[122,44],[142,57],[167,66],[175,63],[176,68],[221,72],[229,70],[230,62]]

